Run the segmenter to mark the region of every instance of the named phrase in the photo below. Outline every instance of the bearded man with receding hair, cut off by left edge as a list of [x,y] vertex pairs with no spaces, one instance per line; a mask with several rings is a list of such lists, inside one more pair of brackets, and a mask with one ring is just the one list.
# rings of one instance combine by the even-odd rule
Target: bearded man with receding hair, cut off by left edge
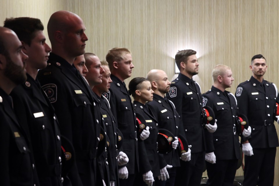
[[[10,92],[26,81],[22,43],[0,27],[0,180],[1,185],[39,185],[31,144],[13,111]],[[24,108],[22,108],[24,109]]]

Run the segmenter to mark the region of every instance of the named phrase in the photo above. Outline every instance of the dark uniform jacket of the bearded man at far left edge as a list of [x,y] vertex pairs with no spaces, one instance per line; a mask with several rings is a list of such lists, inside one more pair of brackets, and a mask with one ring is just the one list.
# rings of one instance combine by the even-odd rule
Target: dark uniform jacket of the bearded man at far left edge
[[30,141],[12,109],[12,99],[0,89],[1,185],[39,185]]

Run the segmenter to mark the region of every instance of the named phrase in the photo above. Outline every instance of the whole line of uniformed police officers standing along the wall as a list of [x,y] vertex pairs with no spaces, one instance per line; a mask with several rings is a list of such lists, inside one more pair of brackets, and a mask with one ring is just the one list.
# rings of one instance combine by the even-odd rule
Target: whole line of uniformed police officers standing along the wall
[[128,90],[128,49],[110,49],[102,62],[85,53],[83,21],[68,11],[49,19],[52,49],[43,30],[30,17],[0,27],[1,185],[195,186],[205,163],[207,185],[232,185],[241,146],[243,184],[273,185],[278,90],[263,79],[262,55],[235,95],[226,65],[201,94],[193,50],[177,52],[174,81],[153,69]]

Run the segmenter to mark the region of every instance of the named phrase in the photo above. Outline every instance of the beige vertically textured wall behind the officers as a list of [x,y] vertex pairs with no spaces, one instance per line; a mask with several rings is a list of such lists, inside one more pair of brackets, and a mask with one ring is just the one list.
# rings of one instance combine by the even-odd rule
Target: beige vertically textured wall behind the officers
[[[85,23],[87,52],[104,59],[112,47],[132,51],[131,78],[156,68],[172,80],[176,52],[194,49],[200,63],[194,79],[202,92],[212,85],[212,68],[225,64],[232,67],[235,82],[228,90],[234,93],[250,78],[250,60],[258,53],[267,58],[265,79],[279,85],[278,8],[277,0],[1,0],[0,20],[37,17],[46,26],[53,12],[69,10]],[[279,185],[278,168],[276,156],[274,185]]]

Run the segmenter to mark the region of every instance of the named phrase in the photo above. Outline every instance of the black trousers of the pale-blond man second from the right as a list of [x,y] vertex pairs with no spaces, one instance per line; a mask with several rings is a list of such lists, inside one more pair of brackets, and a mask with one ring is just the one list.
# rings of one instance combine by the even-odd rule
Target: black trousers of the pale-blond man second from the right
[[205,162],[208,181],[208,186],[232,186],[235,179],[238,160],[216,160],[212,164]]

